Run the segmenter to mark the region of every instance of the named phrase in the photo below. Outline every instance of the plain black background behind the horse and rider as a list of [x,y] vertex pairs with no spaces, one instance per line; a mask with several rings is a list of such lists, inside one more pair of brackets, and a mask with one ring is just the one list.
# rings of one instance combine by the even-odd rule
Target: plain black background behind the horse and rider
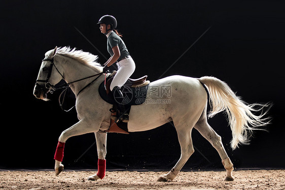
[[[70,46],[99,55],[104,63],[75,27],[109,57],[106,38],[95,24],[105,14],[117,18],[117,28],[135,60],[132,78],[148,75],[151,81],[210,27],[163,77],[215,76],[247,103],[272,102],[269,132],[257,131],[251,145],[234,151],[225,115],[218,114],[209,123],[222,136],[236,168],[284,168],[284,5],[200,0],[2,2],[0,168],[54,167],[58,137],[77,122],[77,115],[59,108],[60,92],[50,95],[50,102],[33,97],[41,60],[55,46]],[[196,151],[183,170],[223,168],[217,151],[196,130],[192,137]],[[68,139],[65,168],[96,169],[94,141],[94,134]],[[180,157],[169,123],[147,132],[109,134],[107,150],[107,169],[170,170]]]

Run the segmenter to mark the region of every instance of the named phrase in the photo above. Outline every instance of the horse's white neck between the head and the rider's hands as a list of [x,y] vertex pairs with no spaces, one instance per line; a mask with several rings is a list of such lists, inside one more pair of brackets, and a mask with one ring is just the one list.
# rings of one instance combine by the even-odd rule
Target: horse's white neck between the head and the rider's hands
[[[78,60],[74,58],[59,55],[58,62],[61,62],[61,66],[63,69],[63,77],[65,82],[67,83],[74,82],[76,80],[80,80],[100,73],[99,69],[94,69],[85,64],[81,64]],[[69,87],[75,94],[78,94],[78,92],[92,80],[94,80],[94,77],[71,83]]]

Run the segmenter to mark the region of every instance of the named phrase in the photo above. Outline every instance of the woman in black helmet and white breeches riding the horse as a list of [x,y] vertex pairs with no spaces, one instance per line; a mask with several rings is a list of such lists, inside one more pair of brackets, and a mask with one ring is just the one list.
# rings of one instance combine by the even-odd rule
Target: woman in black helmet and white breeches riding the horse
[[131,58],[124,41],[121,39],[122,36],[116,30],[116,18],[111,15],[104,15],[99,19],[97,24],[100,24],[101,33],[107,37],[107,50],[111,55],[108,61],[105,62],[103,71],[108,70],[110,66],[118,61],[118,71],[111,83],[110,89],[114,94],[114,97],[120,97],[120,99],[115,100],[118,103],[120,113],[123,114],[121,120],[123,122],[128,122],[129,115],[125,113],[125,106],[122,104],[124,96],[120,88],[133,74],[135,63]]

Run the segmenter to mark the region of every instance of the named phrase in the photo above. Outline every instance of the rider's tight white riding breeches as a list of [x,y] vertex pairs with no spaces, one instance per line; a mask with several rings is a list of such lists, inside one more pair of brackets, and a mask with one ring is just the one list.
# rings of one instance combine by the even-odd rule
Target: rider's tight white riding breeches
[[111,91],[115,86],[118,87],[123,86],[135,70],[135,64],[131,56],[117,62],[117,66],[118,66],[117,74],[115,75],[110,85]]

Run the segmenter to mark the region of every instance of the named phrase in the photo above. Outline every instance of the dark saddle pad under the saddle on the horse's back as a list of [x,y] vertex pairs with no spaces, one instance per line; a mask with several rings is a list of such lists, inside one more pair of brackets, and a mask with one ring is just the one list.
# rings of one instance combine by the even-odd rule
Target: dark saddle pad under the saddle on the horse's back
[[[140,105],[144,104],[146,101],[147,93],[148,93],[149,84],[142,87],[129,87],[127,85],[124,85],[121,87],[121,91],[124,94],[124,100],[123,104],[125,106],[133,106],[133,105]],[[113,97],[113,94],[107,94],[105,87],[104,87],[104,81],[99,86],[99,94],[100,97],[109,104],[115,104],[115,99]]]

